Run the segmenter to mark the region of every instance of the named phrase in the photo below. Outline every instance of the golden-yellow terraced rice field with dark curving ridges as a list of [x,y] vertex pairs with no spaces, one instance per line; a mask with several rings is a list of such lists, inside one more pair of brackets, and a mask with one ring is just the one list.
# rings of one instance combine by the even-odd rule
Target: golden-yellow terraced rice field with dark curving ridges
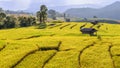
[[89,36],[84,24],[0,30],[0,68],[120,68],[120,25],[100,23]]

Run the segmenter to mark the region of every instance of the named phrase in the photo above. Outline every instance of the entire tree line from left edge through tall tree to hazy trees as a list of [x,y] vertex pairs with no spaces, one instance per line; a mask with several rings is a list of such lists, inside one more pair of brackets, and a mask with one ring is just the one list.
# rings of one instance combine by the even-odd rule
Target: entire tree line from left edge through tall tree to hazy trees
[[[40,6],[40,10],[36,12],[36,17],[8,15],[0,8],[0,29],[32,26],[36,25],[37,21],[39,21],[39,27],[45,28],[48,15],[53,20],[57,20],[57,12],[55,10],[48,11],[46,5]],[[63,16],[66,18],[65,15]]]

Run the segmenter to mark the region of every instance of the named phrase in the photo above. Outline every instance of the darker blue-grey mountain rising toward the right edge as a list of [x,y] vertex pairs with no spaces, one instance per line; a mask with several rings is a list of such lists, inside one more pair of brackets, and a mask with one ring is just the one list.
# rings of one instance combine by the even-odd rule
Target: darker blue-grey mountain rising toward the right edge
[[120,2],[117,1],[113,4],[107,5],[103,8],[71,8],[65,11],[65,13],[82,18],[91,18],[97,16],[100,18],[111,18],[120,20]]

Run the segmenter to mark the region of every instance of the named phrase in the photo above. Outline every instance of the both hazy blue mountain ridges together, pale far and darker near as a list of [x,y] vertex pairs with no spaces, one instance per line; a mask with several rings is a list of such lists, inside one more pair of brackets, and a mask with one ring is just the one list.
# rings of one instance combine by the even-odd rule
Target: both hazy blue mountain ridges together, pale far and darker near
[[[28,12],[34,12],[39,10],[40,3],[35,2],[30,5],[30,7],[25,10]],[[66,6],[53,6],[49,9],[54,9],[61,13],[66,13],[74,17],[80,18],[91,18],[97,16],[99,18],[110,18],[120,20],[120,2],[116,1],[110,5],[97,5],[97,4],[82,4],[82,5],[66,5]]]

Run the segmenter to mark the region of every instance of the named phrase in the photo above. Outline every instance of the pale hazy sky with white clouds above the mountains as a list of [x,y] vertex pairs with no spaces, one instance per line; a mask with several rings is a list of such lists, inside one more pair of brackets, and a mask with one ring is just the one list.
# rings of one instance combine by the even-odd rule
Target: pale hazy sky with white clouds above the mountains
[[77,4],[110,4],[120,0],[0,0],[0,7],[11,10],[25,10],[32,3],[46,4],[49,7]]

